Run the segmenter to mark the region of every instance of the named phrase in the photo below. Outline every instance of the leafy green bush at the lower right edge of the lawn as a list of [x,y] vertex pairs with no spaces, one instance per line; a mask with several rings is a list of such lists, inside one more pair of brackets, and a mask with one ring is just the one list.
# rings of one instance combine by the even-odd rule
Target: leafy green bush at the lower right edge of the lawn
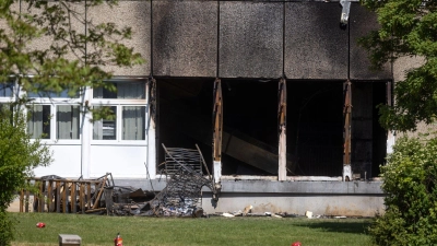
[[377,245],[437,244],[437,138],[401,138],[381,166],[386,212],[369,230]]

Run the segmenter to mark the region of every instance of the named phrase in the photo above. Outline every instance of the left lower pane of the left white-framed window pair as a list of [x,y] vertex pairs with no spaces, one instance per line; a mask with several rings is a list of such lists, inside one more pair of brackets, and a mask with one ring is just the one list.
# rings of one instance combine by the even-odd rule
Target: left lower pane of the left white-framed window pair
[[27,132],[33,139],[50,138],[50,105],[33,105],[29,108],[31,117],[27,121]]

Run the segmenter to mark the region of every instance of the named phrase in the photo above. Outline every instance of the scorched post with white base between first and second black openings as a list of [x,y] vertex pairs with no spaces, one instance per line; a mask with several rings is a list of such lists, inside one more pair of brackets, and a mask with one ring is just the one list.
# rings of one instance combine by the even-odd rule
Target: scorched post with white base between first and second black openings
[[222,136],[223,136],[223,97],[222,82],[216,79],[214,82],[214,102],[213,102],[213,162],[214,162],[214,181],[220,183],[222,176]]

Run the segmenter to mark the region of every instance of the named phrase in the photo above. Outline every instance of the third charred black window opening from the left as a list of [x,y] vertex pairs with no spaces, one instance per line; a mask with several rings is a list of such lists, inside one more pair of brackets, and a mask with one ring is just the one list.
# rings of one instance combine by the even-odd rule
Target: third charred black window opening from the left
[[342,82],[287,82],[287,175],[340,176],[343,161]]

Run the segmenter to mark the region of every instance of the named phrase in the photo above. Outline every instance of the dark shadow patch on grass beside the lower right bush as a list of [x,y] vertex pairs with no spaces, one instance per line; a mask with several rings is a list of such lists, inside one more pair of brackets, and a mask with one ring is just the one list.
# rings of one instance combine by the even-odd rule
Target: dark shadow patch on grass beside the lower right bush
[[296,224],[296,226],[309,227],[322,232],[367,234],[371,221],[349,222],[349,221],[320,221]]

